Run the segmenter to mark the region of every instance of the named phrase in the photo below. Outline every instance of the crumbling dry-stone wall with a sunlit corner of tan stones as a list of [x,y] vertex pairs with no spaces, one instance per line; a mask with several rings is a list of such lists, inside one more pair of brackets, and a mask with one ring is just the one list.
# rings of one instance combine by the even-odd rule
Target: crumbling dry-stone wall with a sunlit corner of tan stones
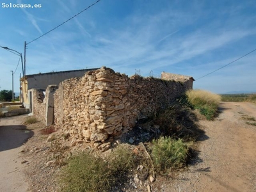
[[56,127],[76,140],[106,143],[168,106],[191,87],[188,81],[115,73],[102,67],[67,79],[54,93]]

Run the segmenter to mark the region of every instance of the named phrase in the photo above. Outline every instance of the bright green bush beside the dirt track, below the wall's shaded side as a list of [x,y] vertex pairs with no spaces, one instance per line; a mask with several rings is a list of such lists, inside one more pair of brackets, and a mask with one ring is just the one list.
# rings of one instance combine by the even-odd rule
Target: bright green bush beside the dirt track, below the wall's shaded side
[[157,170],[181,168],[186,164],[189,149],[183,140],[161,137],[152,143],[152,159]]

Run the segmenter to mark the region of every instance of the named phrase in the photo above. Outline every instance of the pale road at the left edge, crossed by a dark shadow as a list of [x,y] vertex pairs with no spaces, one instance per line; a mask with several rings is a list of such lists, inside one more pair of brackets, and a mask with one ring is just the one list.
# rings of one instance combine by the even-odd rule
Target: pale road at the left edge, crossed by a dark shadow
[[21,125],[24,116],[1,118],[0,122],[0,191],[27,191],[28,184],[19,159],[23,143],[33,132]]

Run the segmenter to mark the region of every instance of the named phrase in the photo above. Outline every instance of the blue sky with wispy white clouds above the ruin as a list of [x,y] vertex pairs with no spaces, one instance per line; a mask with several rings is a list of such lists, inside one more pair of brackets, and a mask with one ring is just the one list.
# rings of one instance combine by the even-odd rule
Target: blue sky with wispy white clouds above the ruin
[[[0,0],[0,45],[24,55],[31,42],[96,0]],[[41,8],[6,8],[6,4]],[[1,48],[1,47],[0,47]],[[101,0],[28,44],[26,74],[106,66],[132,76],[161,72],[198,79],[256,49],[256,3]],[[0,90],[12,89],[19,56],[0,49]],[[256,51],[194,82],[214,93],[256,92]],[[19,66],[14,90],[19,92]]]

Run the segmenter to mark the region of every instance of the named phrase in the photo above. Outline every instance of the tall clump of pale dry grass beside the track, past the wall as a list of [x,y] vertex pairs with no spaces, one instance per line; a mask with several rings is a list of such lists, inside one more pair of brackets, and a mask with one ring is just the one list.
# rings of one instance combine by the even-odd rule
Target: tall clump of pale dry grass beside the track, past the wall
[[221,100],[220,95],[204,90],[189,90],[186,96],[193,109],[198,109],[207,120],[212,120],[216,116]]

